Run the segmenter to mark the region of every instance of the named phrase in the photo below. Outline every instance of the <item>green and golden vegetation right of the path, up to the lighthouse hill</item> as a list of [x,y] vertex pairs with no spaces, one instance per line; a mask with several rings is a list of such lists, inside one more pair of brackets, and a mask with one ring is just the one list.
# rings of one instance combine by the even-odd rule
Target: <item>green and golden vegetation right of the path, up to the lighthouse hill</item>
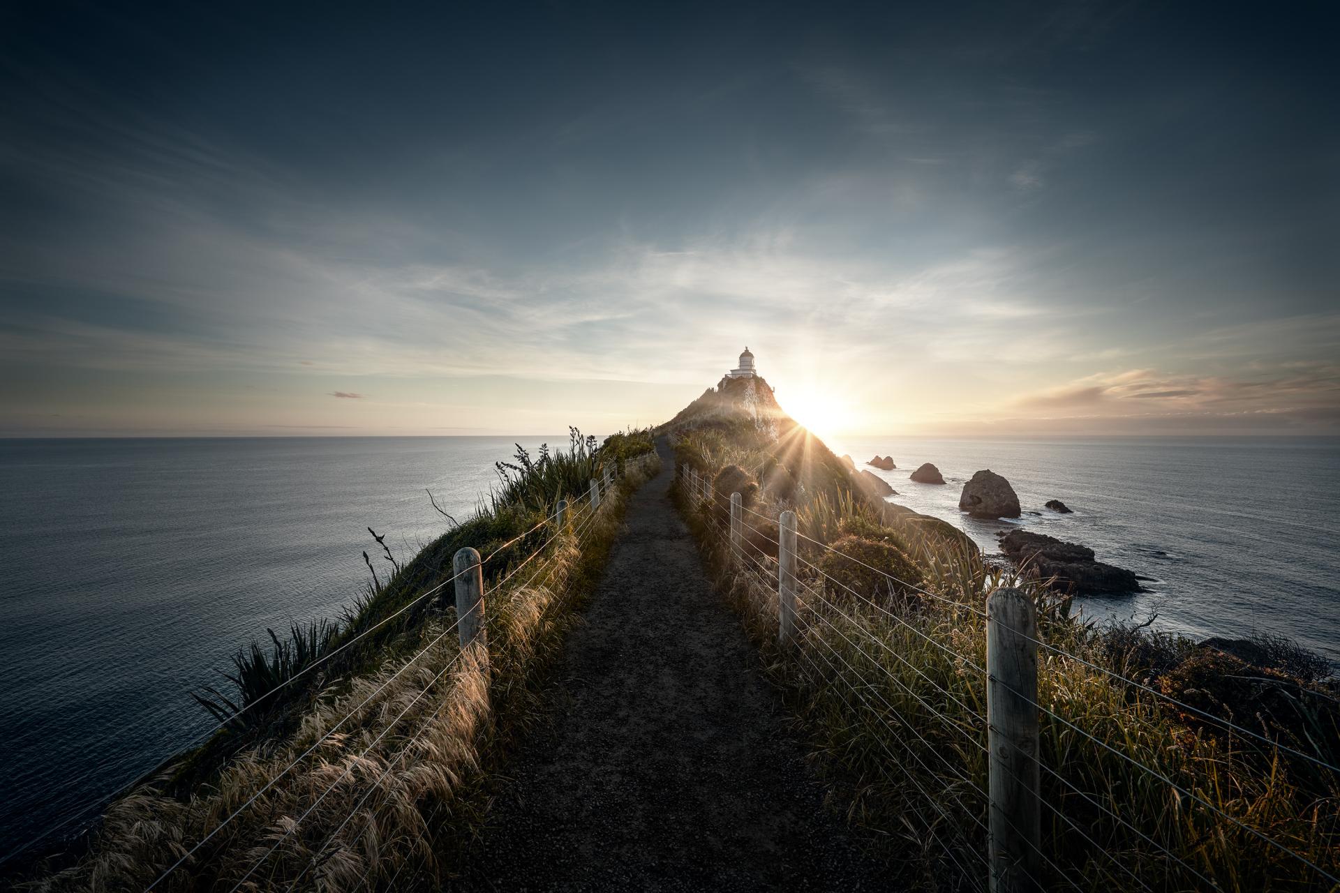
[[[756,530],[745,530],[744,560],[721,536],[720,487],[717,499],[681,505],[847,817],[888,841],[917,889],[977,889],[986,878],[982,609],[1006,585],[1036,602],[1047,645],[1045,889],[1331,889],[1285,850],[1340,874],[1340,778],[1151,694],[1337,764],[1340,702],[1324,661],[1269,637],[1257,637],[1246,660],[1143,628],[1083,623],[1047,581],[994,569],[949,525],[864,493],[780,410],[760,422],[732,392],[697,406],[665,428],[678,463],[708,479],[744,469],[745,486],[779,466],[795,481],[789,495],[760,487],[757,514],[745,513]],[[733,471],[729,486],[741,486]],[[785,652],[768,545],[784,509],[797,513],[801,533],[797,647]]]

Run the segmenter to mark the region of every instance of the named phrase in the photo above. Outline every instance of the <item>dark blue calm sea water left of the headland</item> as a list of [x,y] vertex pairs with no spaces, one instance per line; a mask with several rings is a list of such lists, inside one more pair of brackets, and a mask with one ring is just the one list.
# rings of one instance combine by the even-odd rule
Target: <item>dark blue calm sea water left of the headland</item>
[[[567,434],[521,438],[528,449]],[[513,438],[0,440],[0,856],[212,728],[190,691],[465,518]],[[385,578],[385,577],[383,577]],[[78,822],[72,822],[78,825]]]

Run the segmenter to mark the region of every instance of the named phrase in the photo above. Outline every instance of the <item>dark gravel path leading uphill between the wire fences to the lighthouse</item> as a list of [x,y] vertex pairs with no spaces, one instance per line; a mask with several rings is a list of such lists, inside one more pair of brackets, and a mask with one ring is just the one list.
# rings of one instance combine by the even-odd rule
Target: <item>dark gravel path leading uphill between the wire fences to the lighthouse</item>
[[468,890],[890,889],[823,809],[779,694],[667,489],[627,506],[553,719],[508,768]]

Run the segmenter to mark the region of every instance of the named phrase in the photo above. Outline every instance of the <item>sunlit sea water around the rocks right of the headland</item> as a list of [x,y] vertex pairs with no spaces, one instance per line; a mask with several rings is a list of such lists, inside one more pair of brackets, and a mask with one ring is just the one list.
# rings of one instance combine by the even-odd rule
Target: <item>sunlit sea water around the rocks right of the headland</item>
[[[1340,439],[846,438],[829,446],[858,467],[878,453],[898,469],[875,474],[892,502],[943,518],[989,553],[996,534],[1024,527],[1080,542],[1099,561],[1150,577],[1148,592],[1088,596],[1091,617],[1146,620],[1194,637],[1282,633],[1340,661]],[[946,483],[909,474],[933,462]],[[980,469],[1005,475],[1024,515],[978,521],[958,510]],[[1075,514],[1043,507],[1060,499]],[[1030,514],[1030,511],[1037,514]]]

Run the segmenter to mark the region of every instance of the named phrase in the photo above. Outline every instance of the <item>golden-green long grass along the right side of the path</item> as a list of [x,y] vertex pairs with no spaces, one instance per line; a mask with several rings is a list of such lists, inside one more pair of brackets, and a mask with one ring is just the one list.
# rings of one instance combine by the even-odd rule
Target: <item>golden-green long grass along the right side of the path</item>
[[[701,454],[741,458],[716,443]],[[984,888],[986,644],[978,612],[990,592],[1012,585],[1038,605],[1043,641],[1101,667],[1101,636],[1038,581],[895,526],[923,585],[946,601],[860,598],[801,561],[800,632],[783,651],[775,562],[733,557],[708,517],[713,503],[681,494],[681,507],[847,817],[888,842],[882,851],[904,864],[918,889]],[[801,529],[827,541],[851,514],[860,509],[815,501],[801,507]],[[819,564],[819,546],[801,540],[800,550]],[[1041,707],[1060,718],[1041,714],[1045,889],[1332,889],[1282,850],[1340,874],[1337,779],[1305,786],[1296,766],[1264,755],[1252,739],[1198,732],[1152,695],[1045,649],[1038,685]]]

